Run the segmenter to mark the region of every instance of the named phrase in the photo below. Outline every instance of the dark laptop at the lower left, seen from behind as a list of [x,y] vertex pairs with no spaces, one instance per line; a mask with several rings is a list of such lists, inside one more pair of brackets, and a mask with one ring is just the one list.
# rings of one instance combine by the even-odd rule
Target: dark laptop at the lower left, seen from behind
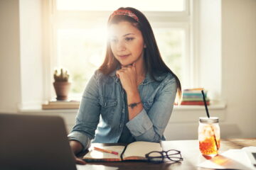
[[0,169],[76,169],[63,119],[0,113]]

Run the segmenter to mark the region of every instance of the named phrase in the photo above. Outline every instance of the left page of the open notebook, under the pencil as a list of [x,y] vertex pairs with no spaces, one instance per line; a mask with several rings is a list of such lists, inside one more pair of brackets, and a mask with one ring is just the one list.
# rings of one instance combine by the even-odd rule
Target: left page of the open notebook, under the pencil
[[82,159],[121,159],[120,156],[122,154],[122,151],[124,150],[124,146],[107,146],[107,147],[100,147],[100,148],[118,152],[118,154],[101,152],[91,147],[89,149],[89,152],[85,154],[85,156]]

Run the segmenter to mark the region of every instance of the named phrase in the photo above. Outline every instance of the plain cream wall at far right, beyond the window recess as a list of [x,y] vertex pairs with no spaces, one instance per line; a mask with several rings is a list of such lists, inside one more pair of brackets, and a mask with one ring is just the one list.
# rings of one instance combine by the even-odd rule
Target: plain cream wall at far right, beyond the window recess
[[231,137],[256,137],[256,1],[222,3],[222,130]]

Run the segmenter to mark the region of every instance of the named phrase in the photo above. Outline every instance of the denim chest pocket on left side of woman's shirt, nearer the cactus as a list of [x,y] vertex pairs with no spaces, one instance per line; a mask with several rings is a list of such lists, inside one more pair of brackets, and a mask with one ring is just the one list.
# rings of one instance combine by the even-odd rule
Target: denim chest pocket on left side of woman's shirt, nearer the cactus
[[100,106],[102,120],[107,124],[112,123],[114,110],[117,108],[117,98],[100,97]]

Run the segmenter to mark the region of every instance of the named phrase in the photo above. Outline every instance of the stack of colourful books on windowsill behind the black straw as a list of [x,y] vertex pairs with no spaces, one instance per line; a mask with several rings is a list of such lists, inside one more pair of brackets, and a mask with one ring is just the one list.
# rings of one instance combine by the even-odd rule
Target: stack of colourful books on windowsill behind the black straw
[[[181,105],[204,105],[203,103],[203,95],[202,91],[203,89],[184,89],[183,90],[183,98],[181,101]],[[210,100],[207,97],[207,91],[203,90],[203,93],[206,97],[206,104],[210,105]]]

